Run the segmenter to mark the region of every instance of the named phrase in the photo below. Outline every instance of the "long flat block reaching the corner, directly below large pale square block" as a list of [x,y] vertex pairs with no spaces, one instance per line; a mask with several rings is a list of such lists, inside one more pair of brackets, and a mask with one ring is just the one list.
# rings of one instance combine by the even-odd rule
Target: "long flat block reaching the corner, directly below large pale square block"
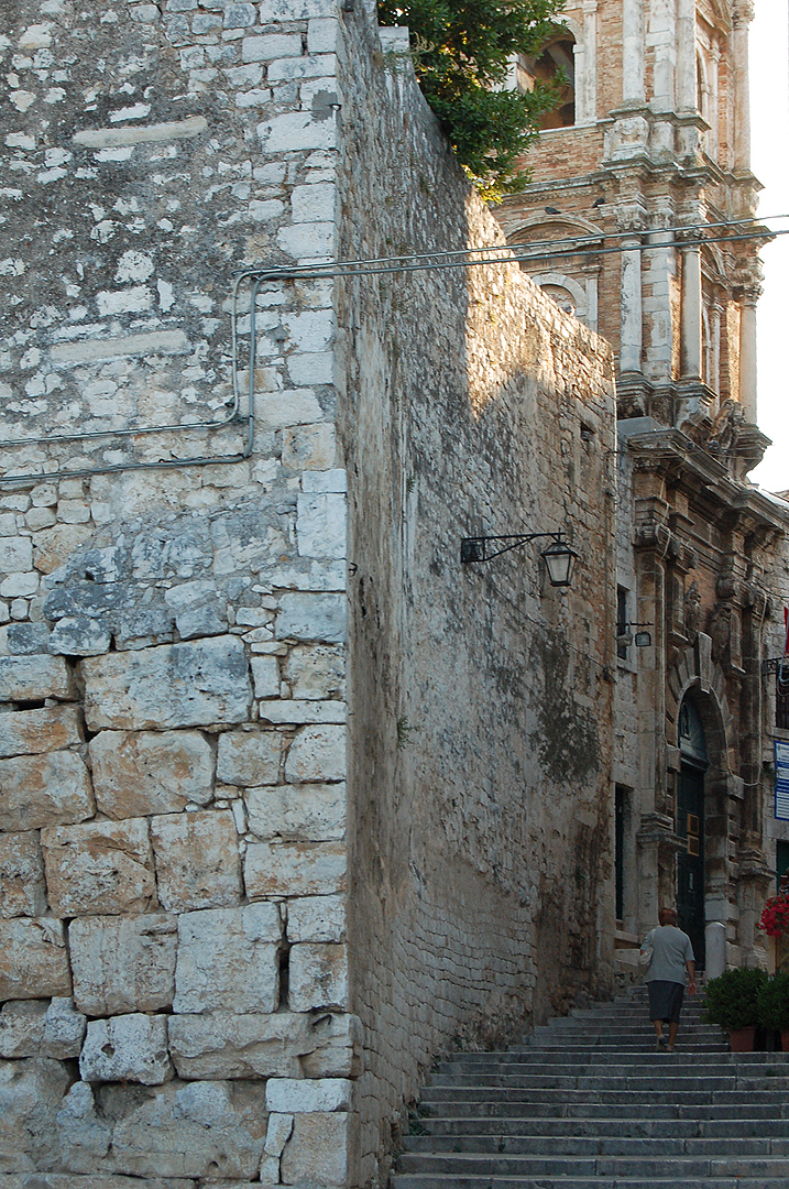
[[170,1052],[181,1077],[351,1077],[361,1052],[353,1015],[171,1015]]

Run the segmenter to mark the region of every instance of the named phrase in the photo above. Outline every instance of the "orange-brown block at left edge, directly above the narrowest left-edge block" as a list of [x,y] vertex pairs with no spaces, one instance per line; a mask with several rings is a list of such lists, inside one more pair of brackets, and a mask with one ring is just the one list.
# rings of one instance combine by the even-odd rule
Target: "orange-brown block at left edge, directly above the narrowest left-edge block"
[[0,760],[0,830],[84,822],[94,810],[90,774],[76,751]]

